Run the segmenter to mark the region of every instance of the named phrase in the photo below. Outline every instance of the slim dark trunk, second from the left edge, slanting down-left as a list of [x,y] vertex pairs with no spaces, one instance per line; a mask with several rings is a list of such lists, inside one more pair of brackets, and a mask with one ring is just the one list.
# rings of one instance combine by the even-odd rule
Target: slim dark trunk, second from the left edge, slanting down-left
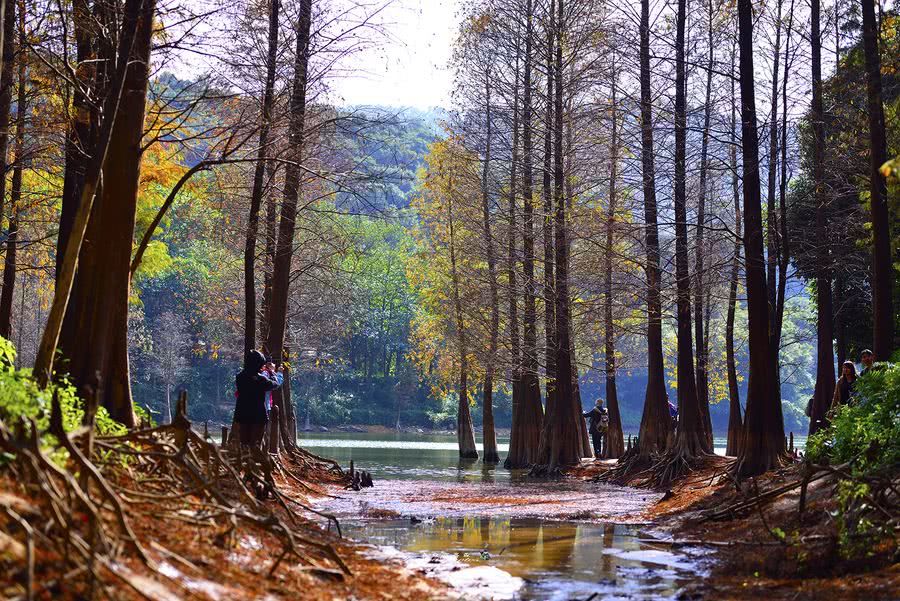
[[[13,11],[10,11],[13,12]],[[0,336],[12,339],[12,305],[16,287],[16,251],[19,242],[19,212],[22,198],[22,170],[25,167],[25,113],[27,109],[25,79],[25,5],[19,2],[18,96],[16,98],[16,145],[12,190],[9,196],[9,233],[6,237],[6,258],[3,262],[3,292],[0,294]],[[5,177],[3,177],[5,179]],[[2,215],[2,213],[0,213]]]

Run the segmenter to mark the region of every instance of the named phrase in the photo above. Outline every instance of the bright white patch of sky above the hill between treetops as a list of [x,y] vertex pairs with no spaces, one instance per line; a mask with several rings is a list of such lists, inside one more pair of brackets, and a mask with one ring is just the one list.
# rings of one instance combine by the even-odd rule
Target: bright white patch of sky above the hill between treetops
[[395,0],[384,12],[386,39],[349,63],[358,75],[335,81],[339,104],[428,109],[449,105],[448,68],[459,0]]

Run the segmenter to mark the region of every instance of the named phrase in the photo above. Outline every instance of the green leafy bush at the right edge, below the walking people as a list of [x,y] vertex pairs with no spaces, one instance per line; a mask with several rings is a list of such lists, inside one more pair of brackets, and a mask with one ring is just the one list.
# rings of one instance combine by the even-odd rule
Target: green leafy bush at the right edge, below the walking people
[[856,381],[856,402],[838,409],[807,443],[815,462],[845,463],[855,474],[900,465],[900,364],[879,363]]

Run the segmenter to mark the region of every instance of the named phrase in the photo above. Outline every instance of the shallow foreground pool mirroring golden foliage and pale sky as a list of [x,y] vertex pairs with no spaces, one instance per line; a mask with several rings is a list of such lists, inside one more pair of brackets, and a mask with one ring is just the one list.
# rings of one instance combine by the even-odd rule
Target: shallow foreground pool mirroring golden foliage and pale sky
[[696,563],[641,543],[634,526],[508,518],[435,518],[345,522],[347,536],[431,556],[449,553],[466,566],[491,566],[523,580],[522,599],[570,599],[598,593],[669,598]]

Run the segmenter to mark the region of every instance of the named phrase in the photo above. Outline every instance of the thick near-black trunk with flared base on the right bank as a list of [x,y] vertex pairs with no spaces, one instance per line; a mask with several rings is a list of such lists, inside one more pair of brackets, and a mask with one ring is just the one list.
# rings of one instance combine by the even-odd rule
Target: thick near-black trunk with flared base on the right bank
[[[813,0],[814,2],[817,0]],[[753,9],[751,0],[738,1],[740,46],[741,146],[744,177],[744,256],[747,279],[747,321],[750,331],[750,376],[747,412],[741,435],[738,476],[761,474],[780,464],[785,452],[781,404],[772,395],[769,366],[769,308],[763,257],[759,138],[753,72]],[[830,365],[830,362],[829,362]]]

